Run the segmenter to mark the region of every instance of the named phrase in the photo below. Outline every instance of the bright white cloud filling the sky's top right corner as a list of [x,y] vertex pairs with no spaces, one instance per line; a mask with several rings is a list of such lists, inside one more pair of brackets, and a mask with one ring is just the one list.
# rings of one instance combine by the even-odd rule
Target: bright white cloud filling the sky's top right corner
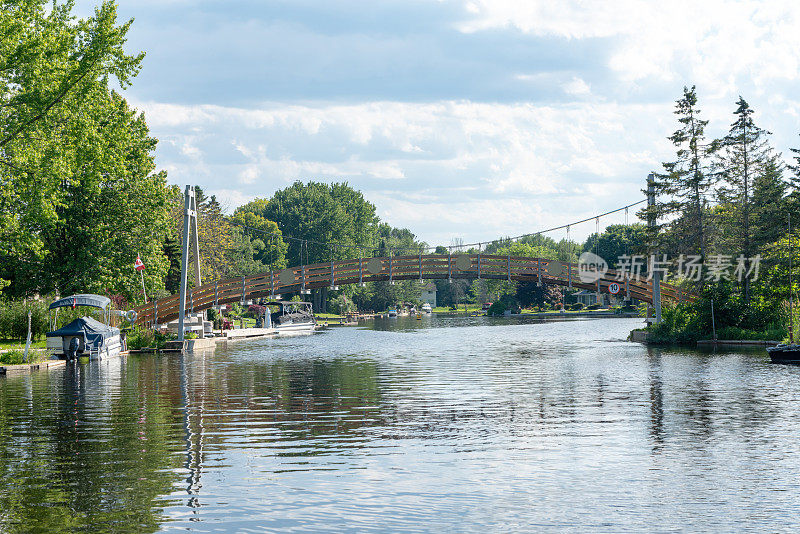
[[737,79],[766,90],[800,77],[800,3],[796,0],[474,0],[463,32],[515,28],[537,36],[617,41],[608,67],[621,80],[690,80],[713,96]]

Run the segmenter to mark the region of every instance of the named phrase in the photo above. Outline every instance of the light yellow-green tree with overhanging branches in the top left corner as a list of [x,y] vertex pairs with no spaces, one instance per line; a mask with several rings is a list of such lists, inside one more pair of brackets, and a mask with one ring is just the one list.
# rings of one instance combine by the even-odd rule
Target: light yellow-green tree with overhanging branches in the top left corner
[[[27,269],[15,265],[15,282],[48,256],[45,230],[58,225],[76,174],[87,172],[75,167],[76,156],[102,145],[92,133],[108,132],[106,120],[125,114],[107,81],[127,87],[144,57],[123,50],[131,23],[117,25],[114,2],[82,20],[71,11],[72,2],[0,3],[0,255],[31,260]],[[86,146],[77,143],[83,134]]]

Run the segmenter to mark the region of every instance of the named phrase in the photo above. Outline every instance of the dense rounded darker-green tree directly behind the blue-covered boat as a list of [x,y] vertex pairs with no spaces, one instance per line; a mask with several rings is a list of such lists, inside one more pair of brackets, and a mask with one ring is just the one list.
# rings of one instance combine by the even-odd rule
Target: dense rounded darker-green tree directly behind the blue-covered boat
[[93,291],[141,300],[137,254],[151,289],[163,285],[170,189],[166,174],[154,172],[156,140],[120,95],[98,87],[92,97],[61,113],[69,127],[60,136],[54,217],[39,222],[39,252],[9,262],[12,294]]

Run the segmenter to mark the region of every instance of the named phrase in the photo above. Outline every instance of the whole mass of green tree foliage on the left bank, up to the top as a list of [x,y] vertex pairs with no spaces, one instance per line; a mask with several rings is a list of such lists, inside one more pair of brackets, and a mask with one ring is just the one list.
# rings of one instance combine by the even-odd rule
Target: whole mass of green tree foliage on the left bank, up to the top
[[140,293],[136,254],[160,285],[167,263],[166,177],[155,172],[144,116],[109,88],[126,87],[143,54],[123,46],[130,22],[102,3],[0,10],[0,278],[20,296]]

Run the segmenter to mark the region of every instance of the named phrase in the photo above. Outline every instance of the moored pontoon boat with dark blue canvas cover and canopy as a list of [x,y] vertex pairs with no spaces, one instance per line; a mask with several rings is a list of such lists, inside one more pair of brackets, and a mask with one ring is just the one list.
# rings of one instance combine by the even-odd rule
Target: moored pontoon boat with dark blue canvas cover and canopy
[[[100,360],[117,356],[125,350],[125,342],[119,328],[108,324],[111,299],[102,295],[80,294],[56,300],[50,304],[50,328],[47,332],[47,351],[58,359],[74,360],[81,356]],[[84,315],[61,328],[55,329],[61,308],[87,307],[100,309],[105,322]],[[55,311],[55,314],[53,314]]]

